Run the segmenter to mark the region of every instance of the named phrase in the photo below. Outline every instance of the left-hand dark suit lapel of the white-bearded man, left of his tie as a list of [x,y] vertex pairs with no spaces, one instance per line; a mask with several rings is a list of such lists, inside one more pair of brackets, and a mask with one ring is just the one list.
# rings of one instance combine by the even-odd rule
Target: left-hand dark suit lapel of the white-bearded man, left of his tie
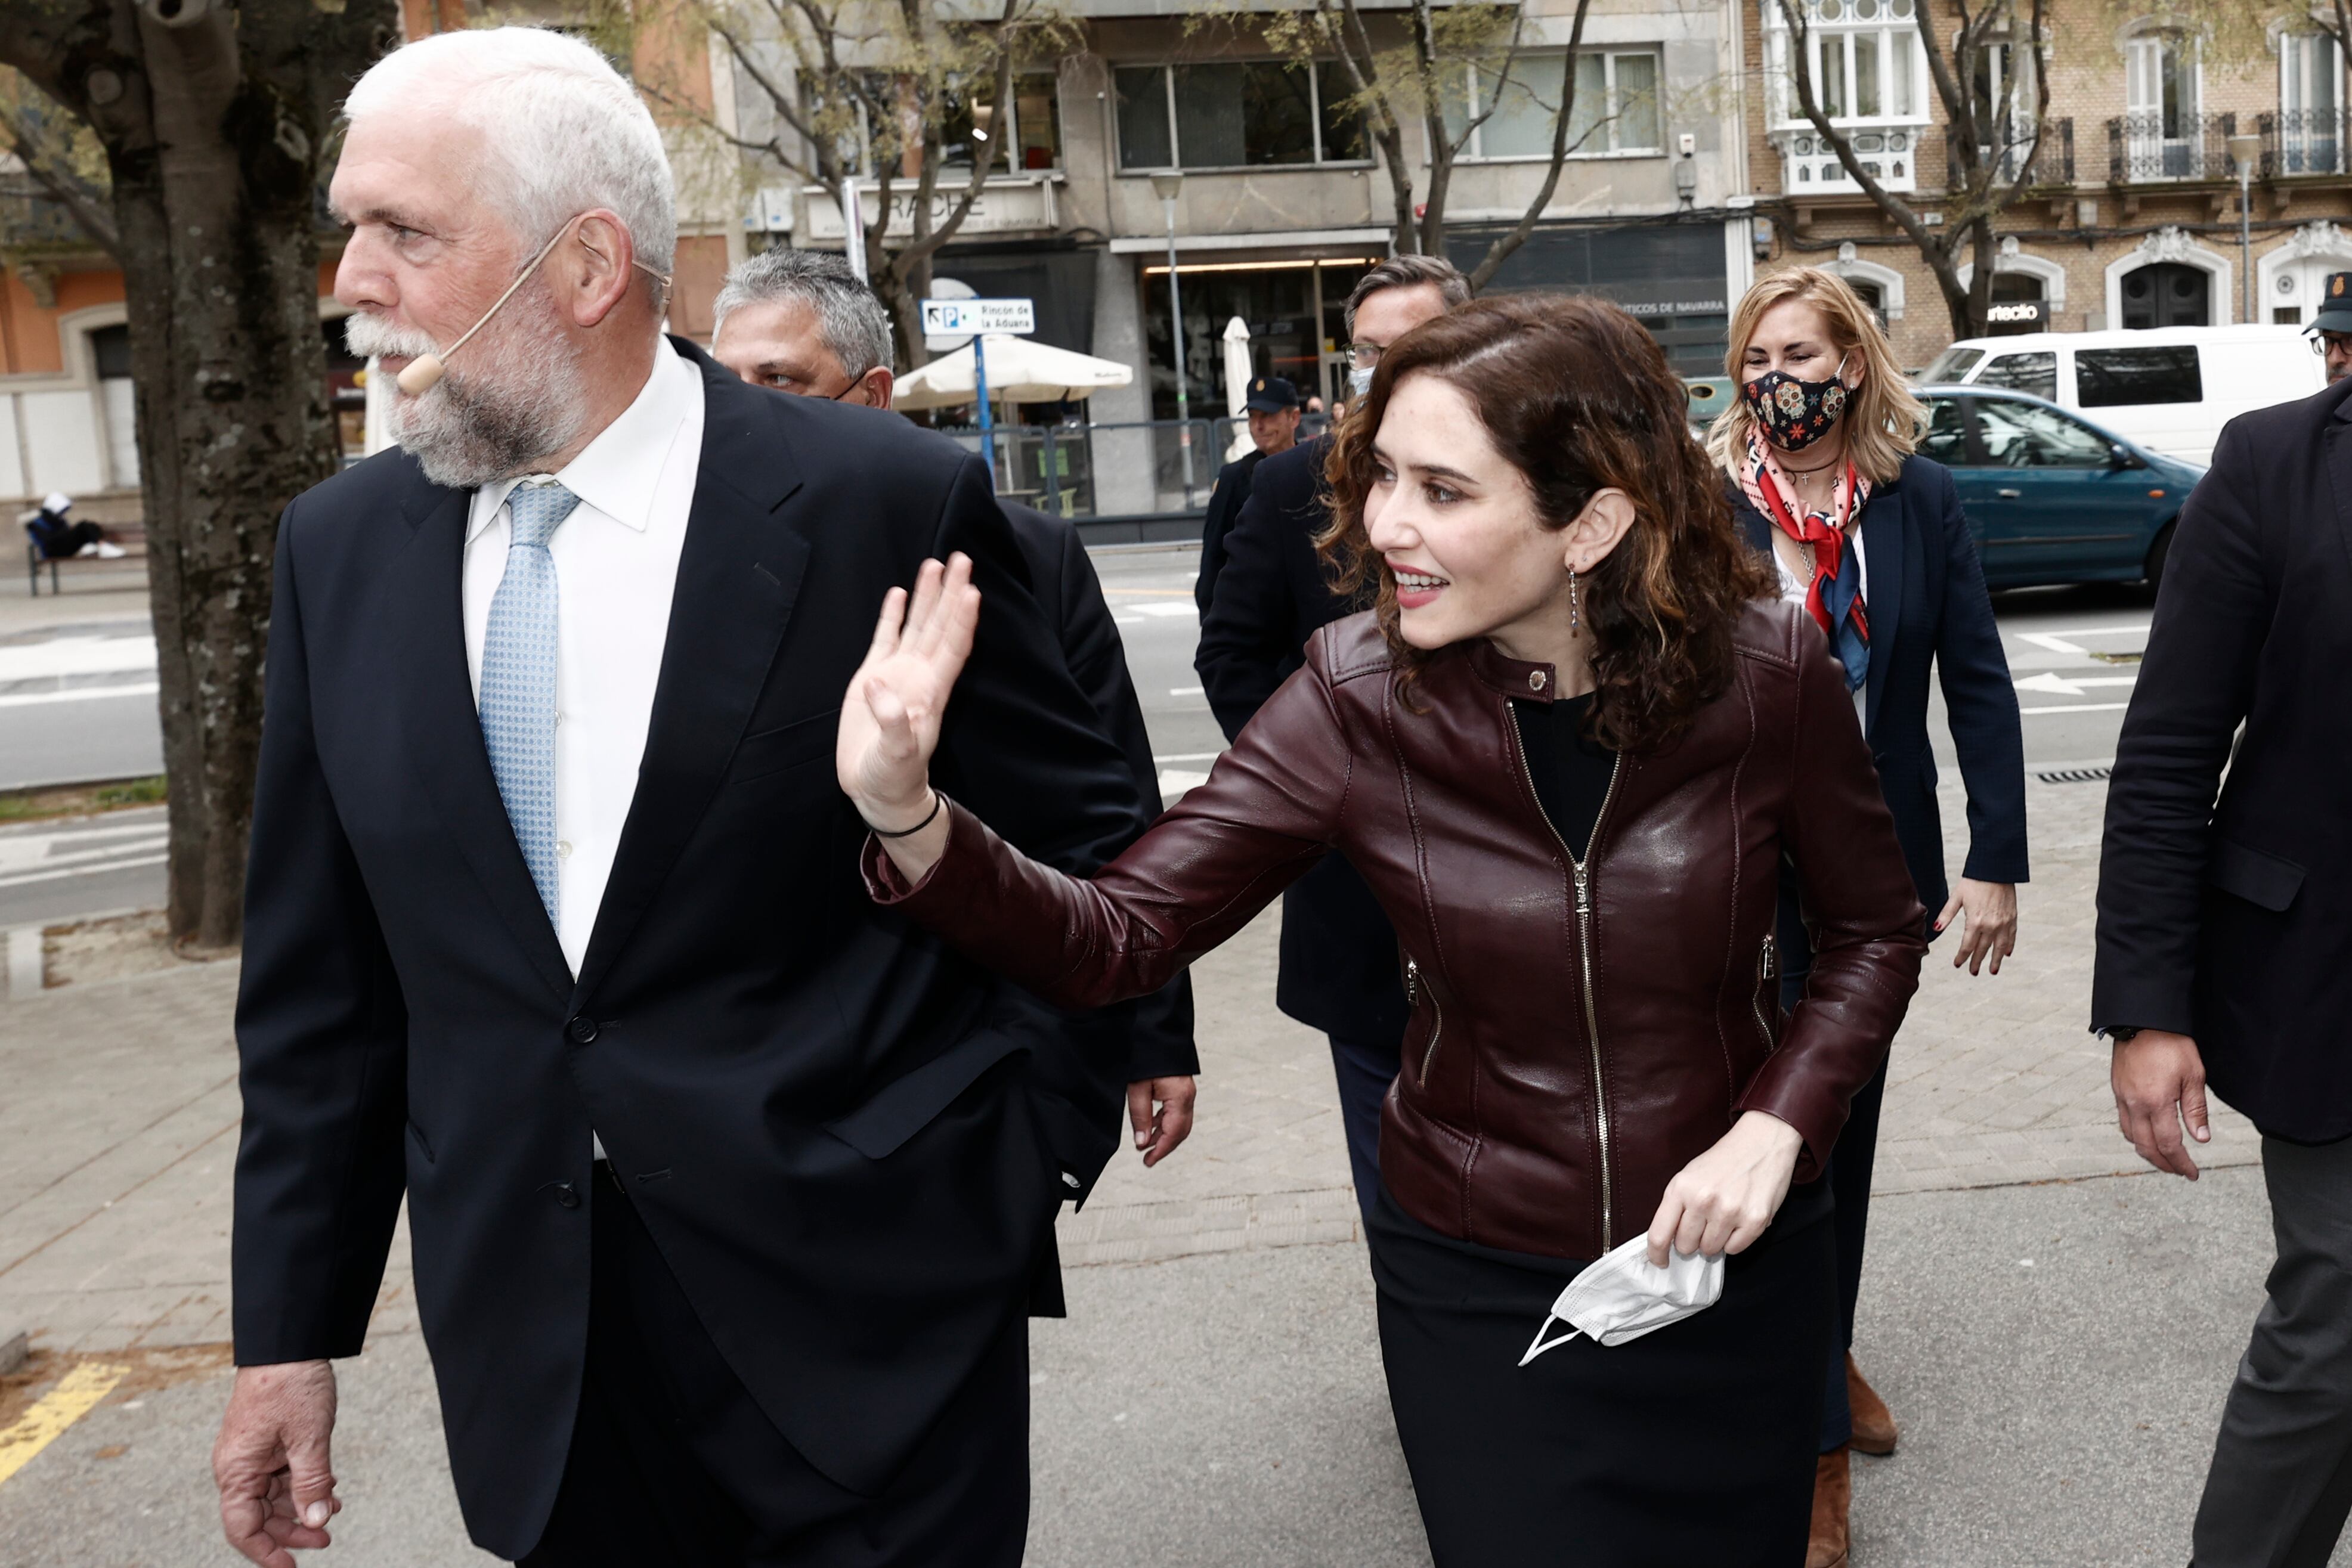
[[572,969],[555,926],[539,903],[532,870],[515,844],[515,827],[489,771],[489,748],[466,670],[466,517],[470,491],[419,484],[405,515],[416,529],[393,564],[386,604],[393,609],[393,701],[407,755],[440,809],[449,837],[489,907],[515,936],[524,959],[557,997],[572,994]]

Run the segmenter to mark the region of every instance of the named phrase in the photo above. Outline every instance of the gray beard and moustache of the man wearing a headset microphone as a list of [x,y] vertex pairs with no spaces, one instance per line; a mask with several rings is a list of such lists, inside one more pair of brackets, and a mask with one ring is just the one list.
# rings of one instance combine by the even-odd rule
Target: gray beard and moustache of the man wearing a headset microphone
[[[353,313],[343,341],[355,355],[426,355],[433,339]],[[555,301],[529,287],[466,343],[466,367],[449,369],[421,397],[393,393],[386,428],[426,480],[480,489],[536,473],[579,440],[588,423],[579,348],[555,324]]]

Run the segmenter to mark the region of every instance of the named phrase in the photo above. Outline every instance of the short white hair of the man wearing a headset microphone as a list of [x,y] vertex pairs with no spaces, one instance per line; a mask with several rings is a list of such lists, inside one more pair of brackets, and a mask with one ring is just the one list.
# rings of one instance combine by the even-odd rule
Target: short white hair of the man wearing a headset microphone
[[[593,207],[654,273],[677,256],[677,183],[644,99],[602,54],[548,28],[461,28],[393,49],[343,99],[353,125],[447,115],[482,132],[492,207],[536,252]],[[656,284],[656,303],[659,303]]]

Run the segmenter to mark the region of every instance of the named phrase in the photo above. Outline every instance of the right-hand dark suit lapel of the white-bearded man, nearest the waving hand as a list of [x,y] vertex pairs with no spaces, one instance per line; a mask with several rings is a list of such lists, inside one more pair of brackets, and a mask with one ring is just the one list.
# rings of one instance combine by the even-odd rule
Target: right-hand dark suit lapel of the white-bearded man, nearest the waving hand
[[[680,353],[703,371],[703,451],[637,792],[581,959],[576,999],[612,969],[701,825],[767,686],[809,564],[809,541],[786,505],[800,475],[769,409],[776,393],[743,386],[689,343],[680,343]],[[515,863],[522,863],[520,851]]]

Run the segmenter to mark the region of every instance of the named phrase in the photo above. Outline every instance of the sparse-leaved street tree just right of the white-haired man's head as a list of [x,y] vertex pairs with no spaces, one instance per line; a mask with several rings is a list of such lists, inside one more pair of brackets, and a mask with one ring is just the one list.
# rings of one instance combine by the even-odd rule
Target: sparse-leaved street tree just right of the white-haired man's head
[[997,106],[1023,63],[1051,61],[1080,40],[1051,0],[1000,0],[974,19],[960,0],[701,0],[696,12],[753,87],[755,125],[722,122],[691,94],[640,73],[640,87],[708,134],[783,172],[840,193],[873,188],[873,212],[844,207],[866,277],[891,313],[901,369],[929,355],[920,301],[931,259],[955,240],[1011,146]]

